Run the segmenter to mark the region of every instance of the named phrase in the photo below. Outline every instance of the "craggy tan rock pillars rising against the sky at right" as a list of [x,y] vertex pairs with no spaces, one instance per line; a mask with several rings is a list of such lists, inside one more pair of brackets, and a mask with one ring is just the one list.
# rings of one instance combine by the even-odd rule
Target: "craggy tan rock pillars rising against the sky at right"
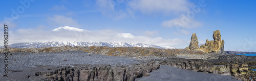
[[196,36],[196,33],[193,33],[191,36],[191,41],[189,44],[189,47],[187,47],[187,50],[201,50],[205,53],[217,53],[217,54],[223,54],[224,51],[224,40],[221,40],[221,33],[220,30],[214,31],[214,34],[212,35],[214,38],[214,41],[208,41],[206,39],[206,43],[204,45],[201,45],[200,48],[198,48],[198,39]]

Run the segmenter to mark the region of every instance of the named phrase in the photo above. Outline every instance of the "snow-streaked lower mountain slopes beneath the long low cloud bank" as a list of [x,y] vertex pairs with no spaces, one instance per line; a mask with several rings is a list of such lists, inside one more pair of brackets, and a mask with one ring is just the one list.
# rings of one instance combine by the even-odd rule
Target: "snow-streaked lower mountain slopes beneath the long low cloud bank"
[[111,42],[35,42],[35,43],[17,43],[11,44],[8,47],[10,48],[40,48],[40,47],[61,47],[61,46],[108,46],[108,47],[148,47],[148,48],[160,48],[160,49],[176,49],[174,47],[159,47],[156,45],[148,45],[148,44],[130,44],[130,43],[111,43]]

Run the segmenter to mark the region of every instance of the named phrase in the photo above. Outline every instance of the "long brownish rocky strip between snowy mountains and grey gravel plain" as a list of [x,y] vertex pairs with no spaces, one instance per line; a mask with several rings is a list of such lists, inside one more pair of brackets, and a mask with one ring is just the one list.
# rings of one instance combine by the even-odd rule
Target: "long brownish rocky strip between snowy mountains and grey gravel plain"
[[[43,47],[43,48],[10,48],[11,53],[14,52],[61,52],[61,51],[84,51],[89,53],[95,53],[100,55],[109,55],[109,56],[126,56],[126,57],[141,57],[141,56],[150,56],[150,57],[173,57],[176,54],[194,54],[194,55],[203,55],[205,54],[202,51],[188,51],[185,49],[158,49],[158,48],[138,48],[138,47],[71,47],[71,46],[62,46],[62,47]],[[0,52],[4,52],[4,49],[0,49]]]

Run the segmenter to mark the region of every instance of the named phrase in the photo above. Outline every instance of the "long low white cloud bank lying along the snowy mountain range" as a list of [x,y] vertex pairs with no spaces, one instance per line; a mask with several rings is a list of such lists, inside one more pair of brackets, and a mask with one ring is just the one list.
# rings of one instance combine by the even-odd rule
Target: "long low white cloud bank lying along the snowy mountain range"
[[[115,30],[90,30],[87,31],[45,31],[36,27],[35,29],[18,29],[10,32],[9,44],[28,42],[126,42],[144,43],[158,46],[179,46],[187,44],[183,39],[164,39],[161,37],[148,37],[145,35],[133,35]],[[84,30],[84,29],[83,29]],[[0,38],[3,40],[3,37]],[[2,45],[3,46],[3,45]]]

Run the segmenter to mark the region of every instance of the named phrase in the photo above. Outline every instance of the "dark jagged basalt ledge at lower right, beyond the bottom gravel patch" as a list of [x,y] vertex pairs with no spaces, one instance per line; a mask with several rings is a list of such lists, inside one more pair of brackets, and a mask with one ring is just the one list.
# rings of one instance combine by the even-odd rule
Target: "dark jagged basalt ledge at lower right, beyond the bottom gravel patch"
[[238,59],[216,65],[200,59],[172,59],[159,62],[160,65],[169,65],[180,69],[187,69],[197,72],[216,73],[220,75],[232,75],[237,78],[248,80],[247,77],[256,79],[255,75],[248,73],[248,65]]

